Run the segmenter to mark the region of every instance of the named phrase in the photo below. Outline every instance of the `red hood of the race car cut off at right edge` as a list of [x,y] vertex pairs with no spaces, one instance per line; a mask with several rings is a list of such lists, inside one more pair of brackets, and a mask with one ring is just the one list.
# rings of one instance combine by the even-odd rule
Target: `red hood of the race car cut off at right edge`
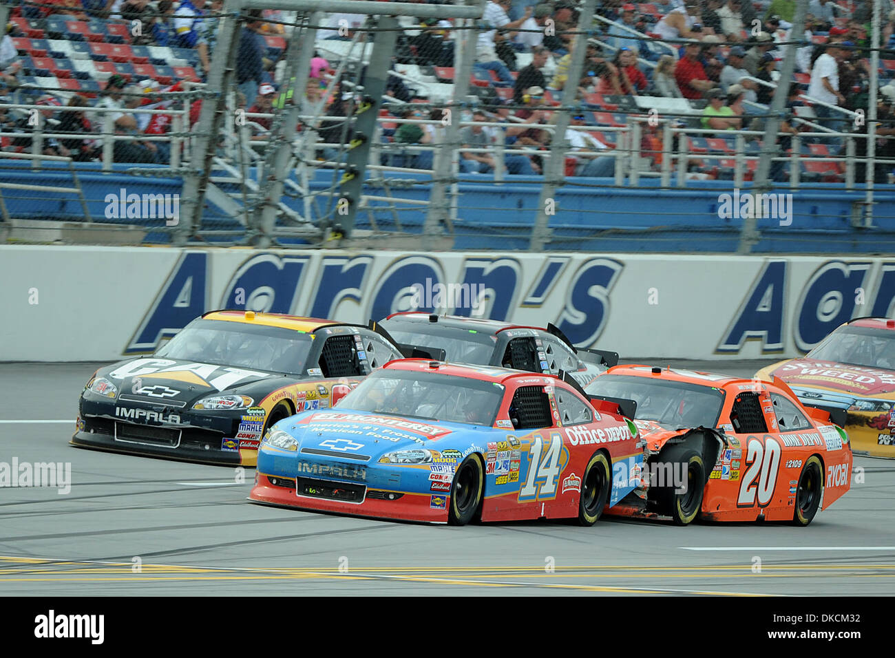
[[792,359],[771,373],[790,387],[831,389],[856,396],[895,398],[895,371],[848,363]]

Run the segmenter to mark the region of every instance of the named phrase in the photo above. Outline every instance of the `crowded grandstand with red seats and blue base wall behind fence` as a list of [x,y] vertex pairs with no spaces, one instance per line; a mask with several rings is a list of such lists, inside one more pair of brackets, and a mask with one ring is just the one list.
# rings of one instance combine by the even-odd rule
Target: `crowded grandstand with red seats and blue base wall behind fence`
[[[767,0],[738,13],[734,0],[458,3],[482,19],[420,10],[400,15],[396,34],[366,14],[249,9],[260,4],[0,0],[4,233],[28,240],[25,222],[77,220],[139,226],[144,244],[316,245],[354,231],[524,249],[540,226],[545,249],[727,252],[742,249],[746,223],[722,217],[720,197],[754,188],[797,201],[789,224],[758,216],[752,250],[885,252],[888,4],[832,4],[829,21],[808,14],[803,38],[797,16],[766,15]],[[216,48],[228,16],[232,73]],[[376,45],[390,33],[371,98]],[[832,102],[820,57],[838,65]],[[724,85],[728,73],[736,82]],[[226,120],[210,123],[205,104]],[[110,213],[119,190],[180,195],[187,208],[173,223]],[[558,213],[545,217],[545,197]]]

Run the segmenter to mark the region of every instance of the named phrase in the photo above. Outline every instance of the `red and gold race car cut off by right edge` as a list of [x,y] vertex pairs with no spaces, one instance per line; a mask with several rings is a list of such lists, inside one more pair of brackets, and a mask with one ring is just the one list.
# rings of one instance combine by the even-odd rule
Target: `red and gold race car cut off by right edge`
[[807,405],[845,409],[855,452],[895,457],[895,320],[849,320],[807,355],[755,373],[771,375]]

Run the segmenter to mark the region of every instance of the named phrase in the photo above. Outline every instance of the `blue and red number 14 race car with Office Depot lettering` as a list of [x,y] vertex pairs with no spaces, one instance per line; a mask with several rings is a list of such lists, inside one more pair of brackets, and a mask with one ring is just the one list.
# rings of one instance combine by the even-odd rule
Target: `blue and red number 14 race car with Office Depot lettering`
[[590,526],[643,466],[619,405],[500,368],[387,363],[333,409],[265,434],[250,500],[464,525],[576,517]]

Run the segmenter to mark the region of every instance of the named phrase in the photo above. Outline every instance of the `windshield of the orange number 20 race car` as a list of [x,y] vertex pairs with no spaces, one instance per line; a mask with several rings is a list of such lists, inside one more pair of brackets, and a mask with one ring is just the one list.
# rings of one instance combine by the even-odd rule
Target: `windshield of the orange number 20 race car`
[[711,386],[631,375],[601,375],[587,385],[586,391],[635,400],[639,420],[674,428],[714,427],[724,402],[724,391]]

